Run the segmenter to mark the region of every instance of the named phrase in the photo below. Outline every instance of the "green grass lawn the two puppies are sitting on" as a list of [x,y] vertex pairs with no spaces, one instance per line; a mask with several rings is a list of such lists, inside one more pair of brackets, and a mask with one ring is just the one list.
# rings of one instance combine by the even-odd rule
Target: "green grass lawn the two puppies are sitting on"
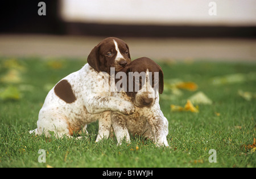
[[[256,167],[256,151],[245,148],[256,138],[256,100],[246,101],[238,95],[238,90],[255,92],[255,76],[213,84],[215,76],[255,75],[255,63],[159,62],[166,83],[173,79],[195,82],[197,91],[213,101],[212,105],[199,105],[199,113],[171,112],[171,104],[184,106],[197,91],[181,90],[183,95],[174,96],[164,90],[160,106],[169,122],[169,148],[157,148],[142,137],[133,137],[131,144],[122,146],[113,138],[95,143],[97,122],[88,126],[89,138],[81,140],[28,134],[36,128],[49,89],[84,63],[74,59],[0,58],[0,94],[11,86],[18,95],[16,100],[0,98],[0,167]],[[10,69],[18,71],[18,80],[15,73],[9,82],[4,80]],[[38,162],[39,149],[46,151],[46,163]],[[217,163],[209,163],[210,149],[216,150]]]

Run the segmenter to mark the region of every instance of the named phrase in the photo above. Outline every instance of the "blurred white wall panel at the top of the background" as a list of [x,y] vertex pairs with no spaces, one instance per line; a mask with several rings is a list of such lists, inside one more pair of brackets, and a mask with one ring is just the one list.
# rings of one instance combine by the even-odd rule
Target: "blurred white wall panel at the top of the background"
[[[209,15],[209,3],[217,15]],[[256,0],[63,0],[65,22],[256,25]]]

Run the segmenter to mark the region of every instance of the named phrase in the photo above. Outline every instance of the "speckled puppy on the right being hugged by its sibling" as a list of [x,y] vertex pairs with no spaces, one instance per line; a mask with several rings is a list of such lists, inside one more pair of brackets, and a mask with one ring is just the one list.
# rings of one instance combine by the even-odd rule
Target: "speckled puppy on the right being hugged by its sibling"
[[128,79],[122,76],[121,80],[117,80],[116,86],[122,88],[114,96],[133,103],[135,112],[129,116],[112,112],[112,126],[118,143],[121,144],[123,138],[130,142],[130,133],[150,138],[157,146],[168,146],[168,121],[159,106],[159,93],[163,92],[161,67],[142,57],[132,61],[122,71]]

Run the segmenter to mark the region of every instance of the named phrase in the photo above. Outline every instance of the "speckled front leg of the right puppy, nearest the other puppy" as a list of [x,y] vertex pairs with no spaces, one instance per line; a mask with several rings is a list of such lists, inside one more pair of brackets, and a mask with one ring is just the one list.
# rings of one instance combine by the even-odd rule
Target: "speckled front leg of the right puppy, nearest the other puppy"
[[111,112],[111,121],[114,129],[115,136],[119,145],[122,144],[122,140],[125,139],[127,143],[130,143],[130,135],[125,126],[125,119],[121,113]]

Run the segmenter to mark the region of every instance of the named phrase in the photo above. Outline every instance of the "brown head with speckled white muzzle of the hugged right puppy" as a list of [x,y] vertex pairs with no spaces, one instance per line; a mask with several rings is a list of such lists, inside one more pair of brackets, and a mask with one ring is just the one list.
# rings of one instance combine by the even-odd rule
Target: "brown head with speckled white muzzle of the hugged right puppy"
[[134,59],[122,71],[128,76],[126,94],[138,107],[152,106],[156,91],[163,93],[163,71],[152,59]]

